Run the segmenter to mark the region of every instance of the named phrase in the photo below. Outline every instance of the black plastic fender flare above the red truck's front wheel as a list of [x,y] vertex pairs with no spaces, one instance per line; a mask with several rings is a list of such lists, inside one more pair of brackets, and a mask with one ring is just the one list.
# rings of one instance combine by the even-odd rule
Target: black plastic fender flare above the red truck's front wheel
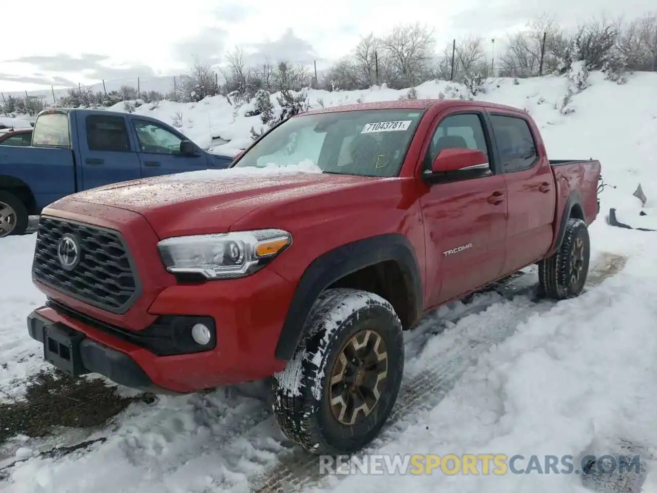
[[397,262],[407,283],[415,318],[422,312],[424,295],[415,250],[397,233],[354,241],[322,254],[306,268],[288,308],[275,358],[291,360],[302,339],[304,324],[317,296],[334,282],[363,268],[386,261]]

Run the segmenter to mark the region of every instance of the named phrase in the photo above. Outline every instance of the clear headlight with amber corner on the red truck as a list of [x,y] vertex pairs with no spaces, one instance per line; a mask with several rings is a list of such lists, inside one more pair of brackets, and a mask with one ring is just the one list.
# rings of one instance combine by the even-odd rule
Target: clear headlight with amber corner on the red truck
[[292,244],[281,229],[168,238],[158,243],[166,270],[206,279],[244,277],[267,265]]

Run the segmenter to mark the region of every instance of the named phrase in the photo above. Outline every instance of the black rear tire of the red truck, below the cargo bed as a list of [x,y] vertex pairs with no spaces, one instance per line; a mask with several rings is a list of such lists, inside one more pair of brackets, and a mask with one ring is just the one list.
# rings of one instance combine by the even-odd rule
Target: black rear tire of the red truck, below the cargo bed
[[[583,248],[579,275],[576,274],[576,248]],[[581,219],[570,218],[566,224],[564,241],[561,247],[551,257],[541,260],[538,264],[538,279],[541,294],[553,300],[566,300],[579,296],[586,284],[589,273],[589,257],[591,254],[591,241],[589,230]]]

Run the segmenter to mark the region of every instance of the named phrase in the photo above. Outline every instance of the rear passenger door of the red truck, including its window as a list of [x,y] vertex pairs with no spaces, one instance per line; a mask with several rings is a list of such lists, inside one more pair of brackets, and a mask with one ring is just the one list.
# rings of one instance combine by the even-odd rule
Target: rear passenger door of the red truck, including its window
[[555,183],[528,118],[493,110],[489,119],[509,195],[503,271],[512,273],[542,258],[552,243]]

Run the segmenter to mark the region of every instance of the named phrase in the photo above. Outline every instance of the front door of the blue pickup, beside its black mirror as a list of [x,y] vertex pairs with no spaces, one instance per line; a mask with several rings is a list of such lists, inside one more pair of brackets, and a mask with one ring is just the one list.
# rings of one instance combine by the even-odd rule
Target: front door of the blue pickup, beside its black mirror
[[131,120],[137,133],[143,177],[210,168],[206,153],[201,149],[198,149],[197,156],[183,156],[180,153],[180,143],[187,140],[183,135],[177,135],[165,126],[149,120],[134,117]]

